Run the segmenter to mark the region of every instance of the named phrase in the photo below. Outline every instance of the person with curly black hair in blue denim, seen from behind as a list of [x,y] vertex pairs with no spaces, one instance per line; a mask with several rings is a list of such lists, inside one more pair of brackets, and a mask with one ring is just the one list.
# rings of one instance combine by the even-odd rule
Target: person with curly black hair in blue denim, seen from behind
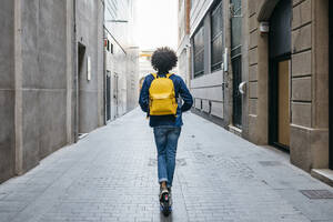
[[[147,112],[148,117],[150,117],[150,127],[153,128],[154,132],[158,149],[158,174],[161,190],[160,201],[165,194],[169,196],[171,193],[178,139],[183,124],[182,113],[190,110],[193,104],[192,95],[182,78],[176,74],[169,73],[169,71],[176,65],[176,62],[178,58],[173,50],[168,47],[157,49],[152,54],[151,64],[158,73],[145,77],[139,100],[142,111]],[[167,81],[165,79],[172,80],[175,103],[174,113],[152,113],[151,109],[154,105],[154,95],[152,92],[153,90],[151,89],[152,82],[158,82],[158,80]],[[154,88],[159,88],[159,83],[153,84]],[[162,87],[163,84],[160,85],[160,88]],[[182,105],[180,105],[178,100],[179,97],[181,97],[184,102]]]

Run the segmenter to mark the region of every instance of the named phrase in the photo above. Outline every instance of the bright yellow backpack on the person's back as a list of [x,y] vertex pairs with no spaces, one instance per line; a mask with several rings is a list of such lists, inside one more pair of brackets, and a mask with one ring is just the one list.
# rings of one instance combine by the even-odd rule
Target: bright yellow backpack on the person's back
[[158,77],[152,73],[154,80],[149,88],[149,114],[150,115],[168,115],[176,114],[178,103],[175,100],[175,92],[173,81],[170,79],[171,74],[165,78]]

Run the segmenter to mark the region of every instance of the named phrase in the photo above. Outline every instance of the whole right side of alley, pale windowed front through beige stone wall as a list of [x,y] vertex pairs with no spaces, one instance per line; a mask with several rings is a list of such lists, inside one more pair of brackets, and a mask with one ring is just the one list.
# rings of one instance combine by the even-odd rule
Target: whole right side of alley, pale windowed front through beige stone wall
[[331,3],[190,3],[194,112],[256,144],[287,151],[307,172],[332,169]]

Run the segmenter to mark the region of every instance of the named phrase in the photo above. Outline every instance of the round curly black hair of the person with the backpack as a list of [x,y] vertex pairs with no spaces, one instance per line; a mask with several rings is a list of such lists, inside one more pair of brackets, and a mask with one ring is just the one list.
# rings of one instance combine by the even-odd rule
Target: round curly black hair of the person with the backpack
[[151,58],[151,64],[159,72],[169,72],[178,62],[175,52],[169,47],[158,48]]

